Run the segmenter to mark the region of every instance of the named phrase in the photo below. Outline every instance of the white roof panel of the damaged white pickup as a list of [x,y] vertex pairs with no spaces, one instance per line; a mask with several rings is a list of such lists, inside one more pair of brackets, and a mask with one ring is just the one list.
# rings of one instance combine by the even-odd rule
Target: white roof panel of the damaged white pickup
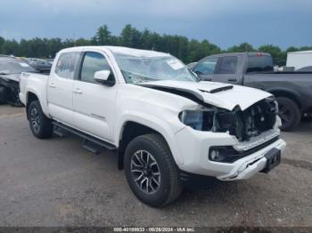
[[133,49],[121,46],[79,46],[79,47],[72,47],[63,49],[62,52],[74,52],[74,51],[81,51],[84,49],[97,49],[97,50],[109,50],[113,53],[123,53],[131,56],[143,56],[143,57],[155,57],[155,56],[169,56],[168,53],[165,52],[155,52],[151,50],[141,50],[141,49]]

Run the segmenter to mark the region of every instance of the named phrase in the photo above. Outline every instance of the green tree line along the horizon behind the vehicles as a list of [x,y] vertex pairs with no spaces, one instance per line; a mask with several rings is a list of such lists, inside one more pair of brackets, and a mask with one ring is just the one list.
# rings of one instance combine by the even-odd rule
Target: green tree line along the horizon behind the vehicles
[[0,36],[0,53],[12,54],[18,57],[53,58],[56,52],[63,48],[82,45],[119,45],[138,49],[169,52],[185,63],[201,60],[201,58],[220,52],[270,52],[276,65],[286,63],[287,52],[312,50],[312,46],[289,47],[282,50],[273,44],[265,44],[254,48],[251,44],[234,45],[227,50],[221,50],[218,45],[208,40],[188,39],[185,36],[160,35],[148,29],[143,31],[127,24],[119,36],[113,36],[107,25],[98,28],[92,38],[66,39],[61,38],[33,38],[4,39]]

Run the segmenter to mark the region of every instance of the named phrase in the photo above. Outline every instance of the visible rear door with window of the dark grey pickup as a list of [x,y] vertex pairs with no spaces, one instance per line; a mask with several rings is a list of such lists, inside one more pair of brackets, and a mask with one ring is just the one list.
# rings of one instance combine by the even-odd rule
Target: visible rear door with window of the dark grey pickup
[[239,84],[239,64],[241,64],[240,56],[229,55],[219,58],[213,81],[219,83]]

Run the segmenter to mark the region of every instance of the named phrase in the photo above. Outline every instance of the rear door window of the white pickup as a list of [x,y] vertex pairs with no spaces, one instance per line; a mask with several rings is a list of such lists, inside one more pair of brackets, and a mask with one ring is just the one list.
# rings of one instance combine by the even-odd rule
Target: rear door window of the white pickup
[[57,60],[55,74],[63,78],[73,79],[80,52],[64,52]]

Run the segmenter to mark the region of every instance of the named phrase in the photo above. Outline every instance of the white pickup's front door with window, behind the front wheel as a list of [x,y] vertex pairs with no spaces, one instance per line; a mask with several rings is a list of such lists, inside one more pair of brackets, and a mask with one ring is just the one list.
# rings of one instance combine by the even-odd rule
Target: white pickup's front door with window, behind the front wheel
[[108,57],[103,52],[86,51],[81,61],[78,80],[73,88],[74,126],[105,141],[112,141],[113,117],[117,86],[107,86],[94,80],[94,73],[110,70]]

